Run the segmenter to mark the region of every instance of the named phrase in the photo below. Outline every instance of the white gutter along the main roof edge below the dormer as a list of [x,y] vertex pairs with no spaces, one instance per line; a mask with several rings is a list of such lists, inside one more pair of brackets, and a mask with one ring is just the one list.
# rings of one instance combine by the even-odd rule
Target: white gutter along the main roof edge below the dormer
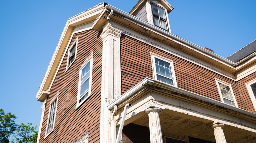
[[109,5],[109,4],[107,4],[105,7],[108,8],[108,9],[113,9],[114,12],[116,12],[116,13],[118,13],[120,15],[123,15],[123,16],[125,16],[125,17],[127,17],[127,18],[129,18],[129,19],[131,19],[131,20],[133,20],[133,21],[135,21],[137,23],[139,23],[139,24],[142,24],[142,25],[144,25],[144,26],[146,26],[148,28],[151,28],[151,29],[153,29],[153,30],[155,30],[157,32],[160,32],[161,34],[164,34],[164,35],[166,35],[166,36],[168,36],[170,38],[173,38],[173,39],[178,40],[178,41],[180,41],[180,42],[182,42],[182,43],[184,43],[184,44],[186,44],[188,46],[191,46],[192,48],[195,48],[195,50],[201,51],[203,55],[211,57],[211,58],[214,57],[214,58],[217,59],[217,61],[219,61],[219,62],[222,61],[224,64],[234,68],[234,64],[235,63],[230,61],[230,60],[228,60],[228,59],[226,59],[226,58],[224,58],[224,57],[222,57],[222,56],[219,56],[219,55],[217,55],[215,53],[212,53],[212,52],[210,52],[210,51],[208,51],[208,50],[206,50],[206,49],[204,49],[204,48],[202,48],[202,47],[200,47],[200,46],[198,46],[198,45],[196,45],[194,43],[191,43],[191,42],[189,42],[189,41],[187,41],[185,39],[182,39],[179,36],[176,36],[176,35],[168,32],[168,31],[165,31],[165,30],[163,30],[163,29],[161,29],[161,28],[159,28],[159,27],[157,27],[155,25],[149,24],[149,23],[147,23],[147,22],[145,22],[145,21],[143,21],[143,20],[141,20],[141,19],[139,19],[139,18],[137,18],[137,17],[135,17],[135,16],[133,16],[133,15],[131,15],[129,13],[126,13],[126,12],[124,12],[124,11],[118,9],[118,8],[115,8],[115,7],[113,7],[113,6]]

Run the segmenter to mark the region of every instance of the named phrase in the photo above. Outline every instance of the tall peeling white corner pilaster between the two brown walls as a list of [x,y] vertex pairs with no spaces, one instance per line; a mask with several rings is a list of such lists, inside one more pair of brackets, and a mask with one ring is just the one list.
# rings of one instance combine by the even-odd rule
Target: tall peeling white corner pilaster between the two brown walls
[[103,26],[101,38],[102,79],[100,104],[100,143],[111,142],[111,112],[107,105],[121,96],[120,37],[122,31],[108,21]]

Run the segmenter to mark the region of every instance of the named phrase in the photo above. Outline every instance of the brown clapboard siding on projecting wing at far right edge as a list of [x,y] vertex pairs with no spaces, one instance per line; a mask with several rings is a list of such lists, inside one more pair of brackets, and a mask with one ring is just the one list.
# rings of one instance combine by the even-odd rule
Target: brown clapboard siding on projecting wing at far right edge
[[254,72],[254,73],[244,77],[243,79],[241,79],[241,80],[239,80],[237,82],[238,87],[240,87],[239,89],[240,89],[242,98],[245,101],[245,108],[246,108],[246,110],[250,111],[250,112],[253,112],[253,113],[256,113],[255,112],[255,108],[254,108],[254,106],[252,104],[249,92],[248,92],[247,87],[246,87],[245,84],[250,82],[251,80],[253,80],[255,78],[256,78],[256,72]]

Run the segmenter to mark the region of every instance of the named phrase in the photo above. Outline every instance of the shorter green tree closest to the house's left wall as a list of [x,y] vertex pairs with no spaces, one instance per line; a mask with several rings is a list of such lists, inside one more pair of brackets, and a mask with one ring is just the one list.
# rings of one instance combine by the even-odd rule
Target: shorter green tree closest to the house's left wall
[[21,123],[17,125],[16,132],[13,133],[14,139],[11,143],[36,143],[38,131],[36,131],[36,126],[33,127],[32,123]]

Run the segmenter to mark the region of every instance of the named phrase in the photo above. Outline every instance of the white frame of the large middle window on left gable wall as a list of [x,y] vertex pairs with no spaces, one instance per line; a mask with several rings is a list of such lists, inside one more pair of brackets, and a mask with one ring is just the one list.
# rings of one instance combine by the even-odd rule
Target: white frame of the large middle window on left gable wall
[[[82,74],[82,69],[85,67],[90,62],[90,76],[89,76],[89,90],[88,90],[88,95],[83,99],[80,103],[80,89],[81,89],[81,74]],[[76,109],[86,101],[87,98],[90,97],[91,92],[92,92],[92,74],[93,74],[93,53],[84,61],[82,66],[79,69],[79,81],[78,81],[78,91],[77,91],[77,100],[76,100]]]

